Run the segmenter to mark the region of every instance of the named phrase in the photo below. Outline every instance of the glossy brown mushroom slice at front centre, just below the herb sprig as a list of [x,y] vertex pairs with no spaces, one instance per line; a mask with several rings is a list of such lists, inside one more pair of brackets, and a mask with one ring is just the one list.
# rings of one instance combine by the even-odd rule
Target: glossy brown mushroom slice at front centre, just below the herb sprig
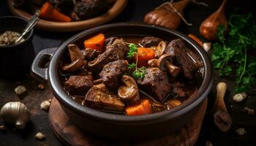
[[118,88],[118,96],[122,101],[138,101],[140,100],[138,85],[136,81],[129,77],[128,75],[124,75],[121,77],[121,81],[124,82],[125,85],[121,85]]

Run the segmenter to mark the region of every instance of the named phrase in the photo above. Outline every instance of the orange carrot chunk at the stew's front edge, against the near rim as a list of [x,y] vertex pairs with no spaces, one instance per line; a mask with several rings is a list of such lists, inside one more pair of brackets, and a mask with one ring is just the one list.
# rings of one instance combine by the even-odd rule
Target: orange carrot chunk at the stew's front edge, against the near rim
[[142,99],[139,102],[130,104],[125,108],[125,113],[127,115],[146,115],[152,113],[152,106],[148,99]]

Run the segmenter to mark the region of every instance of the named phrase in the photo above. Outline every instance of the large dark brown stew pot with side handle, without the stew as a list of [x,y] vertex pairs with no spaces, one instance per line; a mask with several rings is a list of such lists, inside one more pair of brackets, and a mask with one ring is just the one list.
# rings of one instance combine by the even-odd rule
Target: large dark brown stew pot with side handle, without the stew
[[[85,38],[91,37],[99,32],[107,37],[117,36],[147,36],[160,37],[165,40],[182,38],[189,49],[200,56],[204,64],[203,82],[197,93],[184,101],[181,106],[164,112],[157,112],[151,115],[128,117],[99,112],[89,107],[84,107],[71,99],[64,91],[59,80],[59,63],[69,43],[81,45]],[[42,50],[32,64],[31,74],[38,80],[47,80],[53,95],[58,99],[63,110],[69,118],[81,128],[91,134],[102,137],[119,137],[124,139],[159,137],[163,134],[170,134],[185,123],[189,122],[197,112],[203,99],[206,98],[212,85],[211,62],[207,53],[196,42],[189,39],[178,31],[167,28],[135,23],[116,23],[91,28],[80,32],[64,42],[55,53],[55,49]],[[50,65],[44,69],[39,67],[43,58],[50,58]]]

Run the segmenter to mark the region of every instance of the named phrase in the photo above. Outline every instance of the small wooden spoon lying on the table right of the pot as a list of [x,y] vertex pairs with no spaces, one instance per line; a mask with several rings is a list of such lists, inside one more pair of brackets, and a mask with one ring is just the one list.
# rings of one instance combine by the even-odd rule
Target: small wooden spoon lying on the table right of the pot
[[227,132],[232,124],[224,102],[226,91],[227,84],[225,82],[219,82],[217,85],[217,99],[214,105],[214,123],[223,132]]

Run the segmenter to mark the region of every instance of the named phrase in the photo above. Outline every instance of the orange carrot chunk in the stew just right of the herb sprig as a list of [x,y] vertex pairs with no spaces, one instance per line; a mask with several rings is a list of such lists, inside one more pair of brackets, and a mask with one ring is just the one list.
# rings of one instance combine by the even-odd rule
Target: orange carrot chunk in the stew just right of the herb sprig
[[[136,61],[137,55],[134,55]],[[138,67],[148,66],[148,61],[154,59],[154,50],[148,47],[138,47]]]

